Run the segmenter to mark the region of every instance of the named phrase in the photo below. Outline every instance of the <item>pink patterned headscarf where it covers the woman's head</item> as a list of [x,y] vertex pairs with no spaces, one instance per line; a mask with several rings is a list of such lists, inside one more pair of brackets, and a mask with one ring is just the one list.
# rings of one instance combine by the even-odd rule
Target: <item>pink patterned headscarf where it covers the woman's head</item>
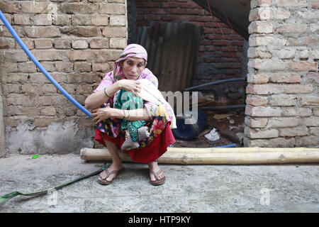
[[120,62],[130,57],[143,58],[145,62],[147,62],[147,52],[145,48],[143,48],[141,45],[138,45],[138,44],[127,45],[126,48],[123,50],[121,56],[118,58],[118,60],[114,62],[113,75],[114,75],[114,78],[116,78],[116,80],[118,79],[117,77],[121,70]]

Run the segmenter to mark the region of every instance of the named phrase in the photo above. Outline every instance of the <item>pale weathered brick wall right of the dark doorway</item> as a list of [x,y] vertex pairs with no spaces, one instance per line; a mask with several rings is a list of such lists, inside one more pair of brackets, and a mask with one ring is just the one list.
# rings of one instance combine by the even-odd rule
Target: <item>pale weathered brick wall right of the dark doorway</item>
[[318,147],[318,1],[251,7],[245,146]]

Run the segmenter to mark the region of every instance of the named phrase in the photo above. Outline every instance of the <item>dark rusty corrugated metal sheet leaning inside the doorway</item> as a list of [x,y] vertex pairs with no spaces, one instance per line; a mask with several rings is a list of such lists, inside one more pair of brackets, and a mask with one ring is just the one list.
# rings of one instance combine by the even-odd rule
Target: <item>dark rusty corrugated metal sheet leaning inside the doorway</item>
[[202,32],[191,23],[138,28],[136,43],[147,50],[147,68],[157,76],[161,91],[184,91],[193,84]]

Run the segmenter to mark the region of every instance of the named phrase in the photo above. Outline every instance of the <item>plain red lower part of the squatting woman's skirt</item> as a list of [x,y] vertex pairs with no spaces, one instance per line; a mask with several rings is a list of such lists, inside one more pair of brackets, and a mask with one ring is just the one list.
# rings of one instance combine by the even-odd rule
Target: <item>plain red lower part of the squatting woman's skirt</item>
[[[106,146],[103,139],[115,143],[119,149],[122,147],[125,140],[122,136],[110,138],[106,135],[106,133],[102,133],[96,128],[95,140]],[[169,127],[169,122],[167,122],[164,131],[154,138],[154,140],[152,140],[152,142],[150,142],[145,148],[124,151],[132,157],[134,162],[150,163],[161,157],[167,151],[167,147],[173,143],[175,143],[175,138],[171,128]]]

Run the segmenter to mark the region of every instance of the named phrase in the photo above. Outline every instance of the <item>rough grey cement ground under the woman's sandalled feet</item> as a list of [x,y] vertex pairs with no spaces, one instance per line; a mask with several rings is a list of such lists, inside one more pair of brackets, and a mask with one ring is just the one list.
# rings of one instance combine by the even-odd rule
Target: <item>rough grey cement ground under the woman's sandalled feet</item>
[[[31,156],[0,158],[1,195],[56,187],[103,166],[79,155]],[[157,187],[148,182],[146,164],[125,162],[110,185],[96,175],[58,190],[56,200],[16,196],[0,212],[319,212],[316,164],[160,166],[167,181]]]

